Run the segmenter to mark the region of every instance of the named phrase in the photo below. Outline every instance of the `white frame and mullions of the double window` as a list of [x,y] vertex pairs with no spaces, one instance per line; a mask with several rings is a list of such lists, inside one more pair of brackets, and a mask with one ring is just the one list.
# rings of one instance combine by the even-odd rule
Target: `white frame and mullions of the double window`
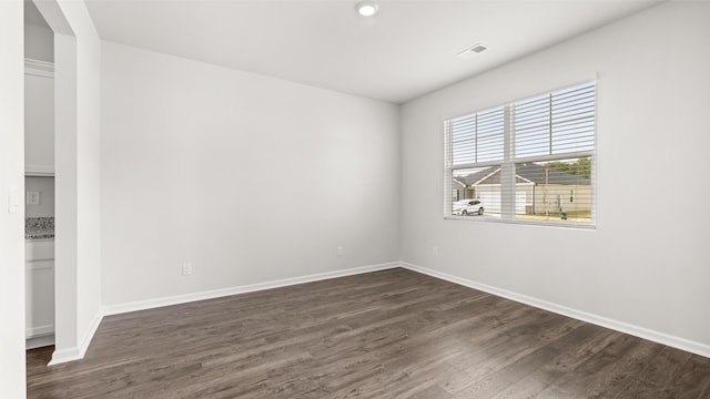
[[[515,152],[515,141],[516,141],[516,130],[514,126],[515,120],[515,106],[518,103],[541,98],[545,95],[552,95],[554,93],[564,92],[566,90],[571,90],[578,86],[584,85],[592,85],[594,86],[594,132],[591,134],[592,137],[592,150],[585,151],[575,151],[567,152],[560,154],[548,154],[548,155],[531,155],[531,156],[523,156],[516,157]],[[454,154],[453,154],[453,132],[452,132],[452,121],[462,119],[468,115],[476,115],[481,112],[487,112],[494,109],[504,108],[505,114],[505,130],[504,130],[504,157],[500,161],[486,161],[479,163],[466,163],[466,164],[457,164],[454,165]],[[474,116],[475,117],[475,116]],[[579,229],[596,229],[597,228],[597,151],[598,151],[598,80],[589,79],[580,81],[576,84],[570,84],[562,86],[557,90],[550,90],[537,95],[526,96],[521,100],[510,101],[503,105],[484,108],[474,112],[468,112],[464,114],[458,114],[452,117],[447,117],[444,120],[444,219],[453,219],[453,221],[476,221],[476,222],[493,222],[493,223],[508,223],[508,224],[521,224],[521,225],[535,225],[535,226],[552,226],[552,227],[561,227],[561,228],[579,228]],[[551,149],[550,143],[550,149]],[[550,151],[551,152],[551,151]],[[530,221],[530,219],[520,219],[516,218],[516,164],[521,163],[536,163],[536,162],[555,162],[555,161],[564,161],[571,158],[582,158],[588,157],[590,160],[590,222],[579,223],[579,222],[569,222],[566,219],[560,221]],[[483,217],[469,217],[462,215],[454,215],[452,212],[452,207],[454,204],[453,201],[453,192],[455,190],[453,185],[454,180],[454,171],[465,170],[465,168],[480,168],[480,167],[489,167],[489,166],[499,166],[500,167],[500,217],[491,217],[486,216],[484,214]],[[458,198],[459,201],[465,198]],[[477,200],[477,198],[474,198]],[[484,203],[485,205],[485,203]]]

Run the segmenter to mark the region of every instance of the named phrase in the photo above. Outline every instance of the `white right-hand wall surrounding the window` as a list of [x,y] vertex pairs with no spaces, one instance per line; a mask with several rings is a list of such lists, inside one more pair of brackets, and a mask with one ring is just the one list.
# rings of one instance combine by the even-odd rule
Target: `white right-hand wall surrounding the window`
[[[665,3],[405,104],[403,259],[710,352],[707,49],[710,4]],[[443,218],[444,119],[595,72],[596,231]]]

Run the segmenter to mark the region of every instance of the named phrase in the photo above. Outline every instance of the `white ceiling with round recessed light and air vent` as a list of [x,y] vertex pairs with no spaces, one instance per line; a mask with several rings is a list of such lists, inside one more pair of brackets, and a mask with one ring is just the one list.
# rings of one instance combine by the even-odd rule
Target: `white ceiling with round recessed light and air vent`
[[381,0],[364,18],[348,0],[85,1],[105,40],[393,103],[659,3]]

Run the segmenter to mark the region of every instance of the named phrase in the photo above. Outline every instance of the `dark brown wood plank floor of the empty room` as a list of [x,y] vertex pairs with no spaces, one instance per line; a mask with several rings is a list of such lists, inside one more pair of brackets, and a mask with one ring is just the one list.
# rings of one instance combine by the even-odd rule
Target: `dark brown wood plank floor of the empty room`
[[103,319],[29,398],[710,398],[710,359],[404,269]]

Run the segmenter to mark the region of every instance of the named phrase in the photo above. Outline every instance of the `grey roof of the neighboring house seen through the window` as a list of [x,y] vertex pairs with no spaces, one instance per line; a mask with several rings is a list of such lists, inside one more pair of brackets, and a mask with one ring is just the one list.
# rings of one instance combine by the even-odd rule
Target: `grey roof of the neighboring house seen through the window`
[[[571,173],[545,167],[538,164],[523,164],[516,167],[516,183],[560,184],[560,185],[590,185],[589,178]],[[483,171],[466,176],[457,176],[454,180],[466,186],[480,184],[500,184],[500,167],[490,166]]]

